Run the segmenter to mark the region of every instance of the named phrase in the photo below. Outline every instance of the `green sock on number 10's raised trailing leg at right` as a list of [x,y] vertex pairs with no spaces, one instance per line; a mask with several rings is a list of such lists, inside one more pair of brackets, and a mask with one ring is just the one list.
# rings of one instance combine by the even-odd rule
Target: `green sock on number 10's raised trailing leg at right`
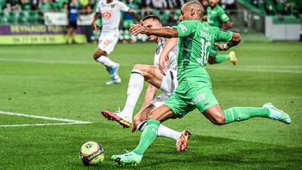
[[234,107],[224,111],[226,123],[243,121],[254,117],[268,118],[270,111],[268,108]]

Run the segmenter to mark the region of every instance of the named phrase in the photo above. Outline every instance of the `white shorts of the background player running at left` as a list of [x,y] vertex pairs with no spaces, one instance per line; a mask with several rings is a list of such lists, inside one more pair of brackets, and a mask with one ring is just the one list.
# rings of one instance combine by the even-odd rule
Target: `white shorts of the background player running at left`
[[99,48],[109,55],[111,52],[113,52],[118,38],[118,31],[101,32],[101,36],[99,37]]

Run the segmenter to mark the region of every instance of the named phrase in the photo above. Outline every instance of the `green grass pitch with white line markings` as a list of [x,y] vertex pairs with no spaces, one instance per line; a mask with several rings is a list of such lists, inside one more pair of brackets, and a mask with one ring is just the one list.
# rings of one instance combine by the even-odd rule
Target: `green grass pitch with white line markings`
[[[154,43],[117,44],[110,56],[119,62],[120,85],[105,85],[108,73],[93,61],[94,45],[20,45],[0,47],[0,111],[90,121],[85,125],[0,127],[0,169],[82,169],[80,146],[96,141],[113,169],[111,155],[136,147],[131,134],[108,122],[101,110],[123,106],[134,64],[152,64]],[[238,66],[208,66],[222,108],[261,107],[272,102],[292,118],[291,125],[264,118],[216,126],[197,110],[164,125],[193,132],[187,153],[175,141],[157,138],[140,169],[301,169],[301,43],[242,43],[234,48]],[[223,53],[223,52],[222,52]],[[145,84],[145,87],[147,84]],[[144,94],[144,92],[142,93]],[[141,95],[136,112],[141,107]],[[1,125],[55,122],[0,115]],[[60,122],[57,122],[60,123]],[[132,167],[124,167],[132,169]]]

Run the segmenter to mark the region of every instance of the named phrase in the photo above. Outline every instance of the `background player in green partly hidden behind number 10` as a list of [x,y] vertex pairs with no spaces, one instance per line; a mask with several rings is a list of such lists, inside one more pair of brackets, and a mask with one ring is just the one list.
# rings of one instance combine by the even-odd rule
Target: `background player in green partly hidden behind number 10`
[[[224,12],[224,9],[218,4],[219,0],[208,0],[208,2],[210,4],[210,6],[207,8],[206,16],[208,24],[210,24],[212,27],[220,27],[221,29],[231,28],[233,23],[231,22],[227,13]],[[233,51],[229,52],[227,55],[217,54],[218,48],[213,44],[208,57],[209,64],[219,64],[229,60],[236,65],[238,62],[235,52]]]

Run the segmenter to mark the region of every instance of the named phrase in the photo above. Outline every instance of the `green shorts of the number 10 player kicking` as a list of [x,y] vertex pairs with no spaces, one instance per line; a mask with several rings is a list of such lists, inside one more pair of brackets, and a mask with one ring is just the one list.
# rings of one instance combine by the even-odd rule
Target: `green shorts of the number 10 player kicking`
[[196,82],[182,80],[176,91],[164,105],[171,108],[174,118],[182,118],[190,111],[198,108],[201,113],[218,104],[213,94],[212,83],[204,80]]

